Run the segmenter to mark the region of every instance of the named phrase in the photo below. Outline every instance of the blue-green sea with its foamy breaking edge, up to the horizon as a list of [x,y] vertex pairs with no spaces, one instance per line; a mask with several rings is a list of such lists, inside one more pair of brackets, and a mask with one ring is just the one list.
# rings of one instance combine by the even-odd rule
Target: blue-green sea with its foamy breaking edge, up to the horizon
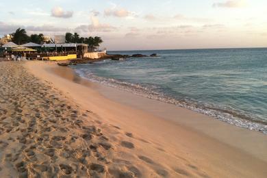
[[267,134],[267,49],[109,51],[155,58],[72,66],[90,81]]

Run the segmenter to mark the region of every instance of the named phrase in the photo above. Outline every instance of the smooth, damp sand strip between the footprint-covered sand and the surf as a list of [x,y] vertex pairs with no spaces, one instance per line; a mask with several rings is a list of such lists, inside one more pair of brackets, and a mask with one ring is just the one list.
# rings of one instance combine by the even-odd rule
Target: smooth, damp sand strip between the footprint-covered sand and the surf
[[[90,107],[92,112],[105,118],[105,121],[116,123],[123,129],[133,129],[136,134],[141,133],[141,136],[153,142],[156,140],[174,153],[178,149],[212,175],[243,174],[249,177],[251,170],[257,170],[259,177],[267,175],[264,170],[267,165],[267,138],[262,133],[237,128],[184,108],[94,84],[74,75],[71,68],[44,62],[27,62],[26,66],[37,77],[52,82],[55,88],[75,98],[82,107]],[[57,74],[51,71],[57,71]],[[68,88],[63,84],[67,84]],[[79,93],[73,90],[79,90]],[[161,110],[155,111],[155,106]],[[133,116],[129,116],[129,113]]]

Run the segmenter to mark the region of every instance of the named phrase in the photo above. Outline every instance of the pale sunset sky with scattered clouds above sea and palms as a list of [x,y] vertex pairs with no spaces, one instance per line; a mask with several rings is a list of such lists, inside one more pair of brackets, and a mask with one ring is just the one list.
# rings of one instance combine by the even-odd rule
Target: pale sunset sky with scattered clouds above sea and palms
[[0,1],[0,37],[101,36],[108,50],[267,47],[266,0]]

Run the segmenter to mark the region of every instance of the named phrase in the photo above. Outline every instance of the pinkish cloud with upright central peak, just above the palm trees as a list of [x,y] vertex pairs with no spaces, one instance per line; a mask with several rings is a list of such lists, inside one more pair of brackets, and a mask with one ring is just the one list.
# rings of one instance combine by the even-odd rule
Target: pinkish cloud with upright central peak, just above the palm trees
[[75,28],[75,31],[89,32],[89,31],[98,31],[98,32],[110,32],[116,27],[113,27],[109,24],[99,23],[99,19],[95,16],[91,16],[92,23],[90,25],[79,25]]

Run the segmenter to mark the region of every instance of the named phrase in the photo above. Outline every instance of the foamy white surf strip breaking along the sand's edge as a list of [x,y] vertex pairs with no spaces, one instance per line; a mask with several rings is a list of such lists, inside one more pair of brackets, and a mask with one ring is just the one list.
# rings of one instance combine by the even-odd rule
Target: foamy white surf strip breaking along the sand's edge
[[[73,70],[75,71],[75,68]],[[240,114],[233,110],[223,110],[222,108],[218,107],[216,108],[207,105],[199,106],[196,103],[190,103],[188,101],[179,101],[173,97],[167,96],[164,93],[155,92],[140,85],[136,86],[136,84],[127,83],[126,81],[118,81],[116,79],[112,79],[112,81],[110,81],[110,79],[98,77],[94,74],[90,75],[88,79],[83,76],[83,73],[77,73],[77,75],[88,81],[97,83],[100,86],[107,86],[107,88],[116,88],[116,90],[131,92],[140,97],[146,97],[148,99],[169,103],[177,107],[183,107],[187,110],[210,116],[224,123],[228,123],[230,125],[235,125],[236,127],[242,127],[253,131],[259,131],[267,135],[266,121],[255,120],[252,117],[245,116],[244,114]]]

